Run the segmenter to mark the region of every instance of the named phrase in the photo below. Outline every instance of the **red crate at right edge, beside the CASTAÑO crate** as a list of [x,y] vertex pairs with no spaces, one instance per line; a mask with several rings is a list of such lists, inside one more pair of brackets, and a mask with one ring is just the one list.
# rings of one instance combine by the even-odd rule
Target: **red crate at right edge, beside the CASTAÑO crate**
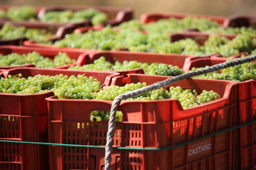
[[[226,58],[200,58],[190,62],[189,69],[193,67],[212,66],[225,62]],[[237,88],[238,115],[235,115],[235,125],[256,120],[256,81],[247,80],[238,83]],[[233,169],[256,168],[256,123],[246,125],[234,130],[235,154]]]

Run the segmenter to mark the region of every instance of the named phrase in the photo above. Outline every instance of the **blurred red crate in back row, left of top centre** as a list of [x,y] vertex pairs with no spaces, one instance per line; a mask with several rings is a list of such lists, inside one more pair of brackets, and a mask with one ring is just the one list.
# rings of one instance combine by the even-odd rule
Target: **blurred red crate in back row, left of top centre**
[[[117,26],[122,22],[129,21],[133,19],[133,10],[132,8],[124,8],[124,7],[96,7],[96,6],[51,6],[46,7],[39,11],[38,18],[42,18],[47,11],[79,11],[84,9],[93,8],[95,10],[99,10],[105,12],[108,15],[108,22],[106,25]],[[58,23],[62,24],[62,23]],[[84,22],[77,23],[80,24],[79,27],[83,26],[92,26],[90,19],[85,20]]]

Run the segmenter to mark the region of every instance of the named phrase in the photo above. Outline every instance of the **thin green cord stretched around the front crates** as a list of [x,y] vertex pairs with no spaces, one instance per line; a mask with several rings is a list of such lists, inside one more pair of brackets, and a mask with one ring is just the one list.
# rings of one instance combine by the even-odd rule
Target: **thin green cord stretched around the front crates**
[[[252,122],[247,122],[238,126],[235,126],[233,128],[229,128],[229,129],[225,129],[225,130],[221,130],[219,132],[215,132],[212,133],[210,135],[206,135],[204,137],[200,137],[198,139],[194,139],[185,143],[181,143],[175,146],[170,146],[170,147],[163,147],[163,148],[132,148],[132,147],[113,147],[113,149],[124,149],[124,150],[140,150],[140,151],[162,151],[162,150],[169,150],[169,149],[174,149],[174,148],[178,148],[180,146],[186,145],[186,144],[191,144],[193,142],[197,142],[199,140],[202,140],[204,138],[207,137],[212,137],[221,133],[225,133],[228,132],[230,130],[234,130],[237,128],[241,128],[243,126],[255,123],[256,120],[252,121]],[[81,145],[81,144],[56,144],[56,143],[44,143],[44,142],[24,142],[24,141],[15,141],[15,140],[0,140],[0,142],[7,142],[7,143],[19,143],[19,144],[39,144],[39,145],[52,145],[52,146],[68,146],[68,147],[83,147],[83,148],[102,148],[104,149],[105,146],[94,146],[94,145]]]

